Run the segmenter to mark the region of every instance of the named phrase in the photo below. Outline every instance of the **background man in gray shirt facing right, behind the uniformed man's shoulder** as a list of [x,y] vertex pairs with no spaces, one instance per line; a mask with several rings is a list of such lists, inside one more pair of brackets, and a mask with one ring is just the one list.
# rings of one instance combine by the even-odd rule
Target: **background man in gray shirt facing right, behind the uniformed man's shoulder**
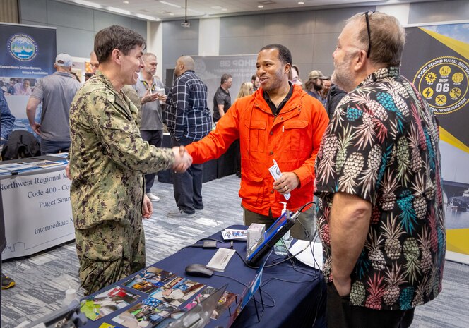
[[[133,89],[138,93],[141,102],[140,135],[150,145],[161,147],[163,142],[162,104],[166,100],[165,85],[155,78],[158,61],[155,54],[147,52],[142,56],[143,68],[138,74],[138,80]],[[145,175],[145,193],[153,202],[160,198],[151,192],[155,181],[155,174]]]

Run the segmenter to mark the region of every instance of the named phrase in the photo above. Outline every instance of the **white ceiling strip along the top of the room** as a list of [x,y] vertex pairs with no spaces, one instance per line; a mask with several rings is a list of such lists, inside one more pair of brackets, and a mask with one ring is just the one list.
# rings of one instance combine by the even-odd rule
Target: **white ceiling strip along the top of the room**
[[[137,16],[145,20],[174,20],[184,18],[187,1],[187,17],[233,16],[239,13],[266,13],[275,11],[301,11],[311,8],[406,4],[433,0],[59,0],[98,8],[100,10]],[[263,8],[259,8],[263,6]],[[120,12],[119,12],[120,11]]]

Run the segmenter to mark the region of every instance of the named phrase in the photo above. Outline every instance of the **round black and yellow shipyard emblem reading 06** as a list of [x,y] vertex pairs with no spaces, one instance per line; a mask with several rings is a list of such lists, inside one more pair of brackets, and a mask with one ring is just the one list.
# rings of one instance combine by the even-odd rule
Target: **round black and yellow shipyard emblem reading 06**
[[432,59],[417,71],[414,84],[435,114],[449,114],[468,102],[469,65],[457,57]]

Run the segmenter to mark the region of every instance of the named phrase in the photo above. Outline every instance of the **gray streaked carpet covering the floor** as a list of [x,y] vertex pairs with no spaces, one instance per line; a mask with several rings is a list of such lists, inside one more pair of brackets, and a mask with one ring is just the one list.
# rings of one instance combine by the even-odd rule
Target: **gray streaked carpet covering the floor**
[[[196,218],[170,219],[165,214],[176,208],[172,185],[155,183],[153,192],[161,201],[153,202],[153,217],[144,222],[147,264],[226,226],[242,224],[238,189],[235,175],[204,183],[205,208],[196,212]],[[64,291],[80,286],[73,241],[30,257],[7,260],[2,269],[16,281],[15,287],[1,292],[1,327],[5,328],[61,308]],[[412,328],[469,327],[468,281],[469,266],[446,261],[443,292],[417,308]],[[83,296],[83,291],[78,291],[78,296]]]

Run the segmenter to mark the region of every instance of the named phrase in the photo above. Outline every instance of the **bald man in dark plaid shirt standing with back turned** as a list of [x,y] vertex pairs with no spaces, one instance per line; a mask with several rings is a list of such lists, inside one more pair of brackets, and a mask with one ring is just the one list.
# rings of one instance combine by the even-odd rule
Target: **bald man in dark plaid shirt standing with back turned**
[[[181,56],[174,68],[177,79],[167,96],[165,112],[174,146],[186,146],[201,140],[212,129],[207,86],[197,77],[194,66],[194,59]],[[196,209],[203,209],[202,173],[202,164],[194,164],[186,172],[173,175],[178,209],[169,212],[168,217],[195,217]]]

